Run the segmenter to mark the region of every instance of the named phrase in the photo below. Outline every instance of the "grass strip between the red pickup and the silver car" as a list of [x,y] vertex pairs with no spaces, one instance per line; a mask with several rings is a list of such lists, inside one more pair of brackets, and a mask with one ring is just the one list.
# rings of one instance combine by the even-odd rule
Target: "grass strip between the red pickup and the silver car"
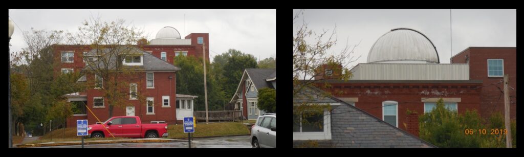
[[[184,133],[183,125],[169,125],[169,138],[187,138],[188,133]],[[195,132],[192,137],[226,136],[236,134],[249,134],[249,129],[241,122],[205,122],[196,123]]]

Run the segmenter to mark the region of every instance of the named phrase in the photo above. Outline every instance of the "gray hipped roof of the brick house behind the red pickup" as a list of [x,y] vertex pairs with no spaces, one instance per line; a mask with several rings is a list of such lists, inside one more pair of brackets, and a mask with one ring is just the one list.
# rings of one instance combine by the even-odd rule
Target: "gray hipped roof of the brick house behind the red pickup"
[[[97,51],[100,51],[100,52],[97,52]],[[96,56],[97,53],[101,53],[101,54],[105,54],[107,53],[108,51],[110,51],[110,49],[92,49],[91,51],[89,51],[87,53],[87,55],[93,55],[93,56]],[[140,65],[140,66],[135,66],[137,69],[140,69],[140,70],[155,70],[155,71],[176,71],[176,70],[180,70],[180,68],[178,68],[177,66],[174,66],[166,61],[163,61],[157,57],[155,57],[154,55],[151,55],[150,53],[147,53],[146,51],[144,50],[141,50],[141,49],[138,49],[138,48],[135,48],[135,47],[130,47],[130,50],[129,50],[131,53],[142,53],[143,54],[143,61],[144,61],[144,65]],[[116,60],[116,56],[106,56],[107,58],[110,58],[110,67],[115,67],[115,63],[117,62]],[[96,62],[96,61],[95,61]],[[121,62],[121,61],[120,61]],[[104,67],[105,65],[102,63],[100,65],[101,67]],[[86,69],[90,69],[91,67],[90,66],[85,66],[84,67],[84,70]]]

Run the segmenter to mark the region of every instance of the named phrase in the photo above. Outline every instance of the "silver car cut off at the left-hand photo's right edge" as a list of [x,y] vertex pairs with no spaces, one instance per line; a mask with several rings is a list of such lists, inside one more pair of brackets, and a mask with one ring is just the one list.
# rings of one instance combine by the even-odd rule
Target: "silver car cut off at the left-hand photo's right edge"
[[277,138],[277,115],[264,114],[258,116],[257,122],[251,127],[249,141],[253,148],[275,148]]

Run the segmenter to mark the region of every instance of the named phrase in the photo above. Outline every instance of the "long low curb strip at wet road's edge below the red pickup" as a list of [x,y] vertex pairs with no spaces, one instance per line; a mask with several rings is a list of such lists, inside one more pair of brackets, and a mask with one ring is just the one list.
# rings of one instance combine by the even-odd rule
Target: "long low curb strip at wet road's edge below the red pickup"
[[[84,141],[84,144],[106,144],[106,143],[145,143],[145,142],[188,142],[187,140],[178,139],[162,139],[162,138],[146,138],[146,139],[117,139],[117,140],[95,140],[95,141]],[[35,143],[35,144],[18,144],[17,148],[30,148],[30,147],[53,147],[59,145],[80,145],[82,141],[63,141],[63,142],[46,142],[46,143]]]

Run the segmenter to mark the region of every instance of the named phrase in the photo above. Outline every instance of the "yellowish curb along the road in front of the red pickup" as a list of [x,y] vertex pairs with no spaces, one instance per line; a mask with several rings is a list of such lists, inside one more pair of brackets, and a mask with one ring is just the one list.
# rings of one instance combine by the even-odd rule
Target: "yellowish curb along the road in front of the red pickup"
[[[88,144],[108,144],[108,143],[146,143],[146,142],[185,142],[177,141],[173,139],[146,139],[146,140],[118,140],[118,141],[84,141],[85,145]],[[19,144],[16,148],[32,148],[32,147],[53,147],[61,145],[81,145],[82,142],[63,142],[63,143],[35,143],[35,144]]]

